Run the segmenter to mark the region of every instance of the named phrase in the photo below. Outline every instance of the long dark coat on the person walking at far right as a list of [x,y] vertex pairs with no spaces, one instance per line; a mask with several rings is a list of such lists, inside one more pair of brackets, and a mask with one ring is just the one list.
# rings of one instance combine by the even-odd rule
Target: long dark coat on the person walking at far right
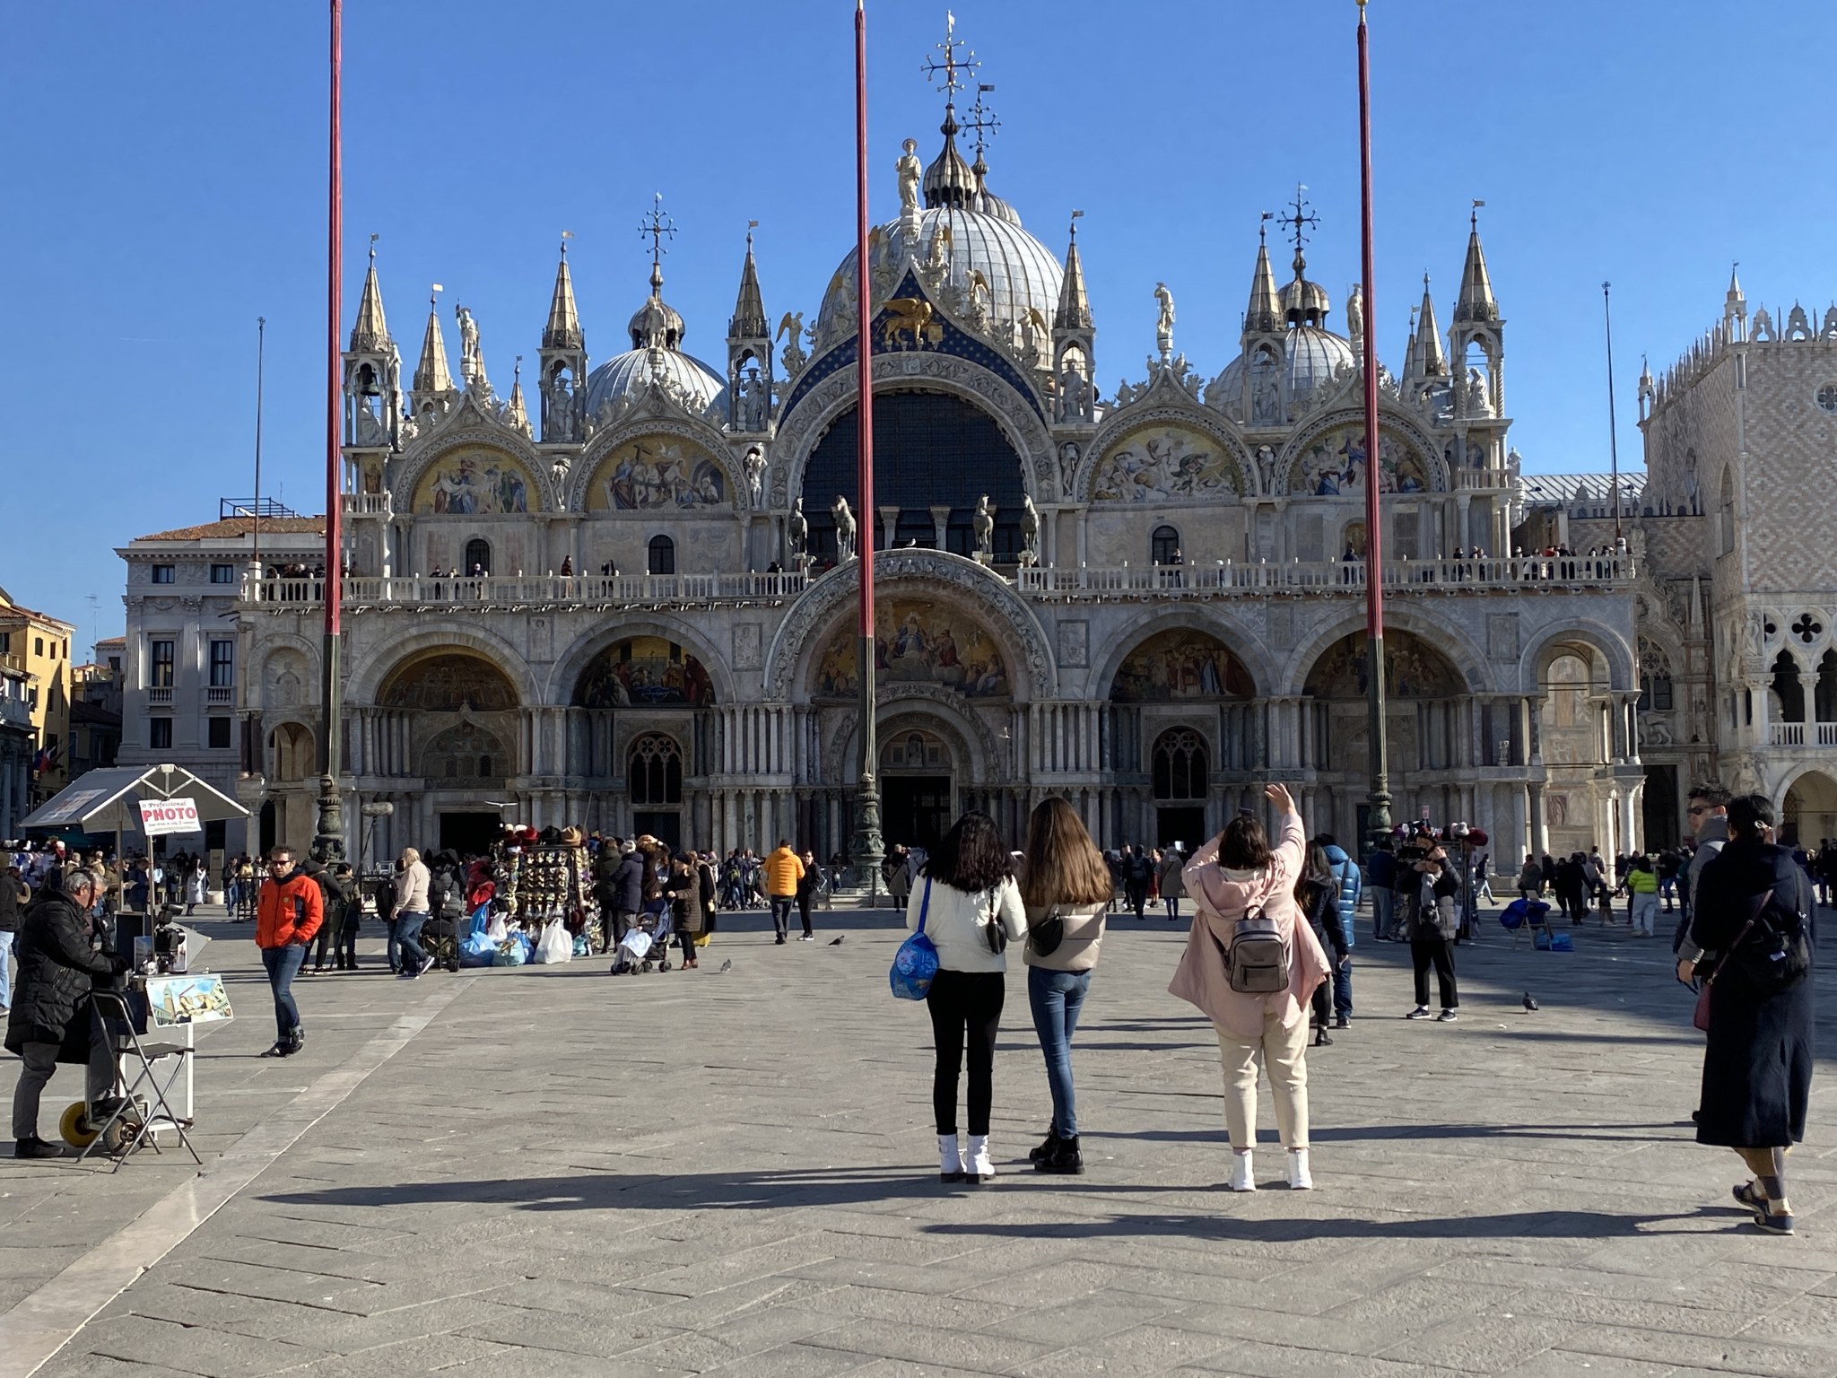
[[[1692,937],[1719,957],[1769,886],[1773,898],[1762,922],[1797,909],[1806,915],[1809,941],[1811,882],[1786,847],[1749,840],[1730,841],[1703,867]],[[1716,957],[1705,961],[1712,965]],[[1811,976],[1776,996],[1764,996],[1734,963],[1723,966],[1710,992],[1697,1143],[1786,1148],[1804,1139],[1811,1058]]]

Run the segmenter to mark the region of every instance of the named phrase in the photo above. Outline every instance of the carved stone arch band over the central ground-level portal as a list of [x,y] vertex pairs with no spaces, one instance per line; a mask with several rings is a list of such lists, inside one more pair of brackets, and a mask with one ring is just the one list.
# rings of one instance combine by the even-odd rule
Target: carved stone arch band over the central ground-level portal
[[[874,582],[885,595],[930,593],[975,608],[1003,647],[1016,702],[1054,698],[1058,663],[1045,630],[1014,588],[975,560],[928,549],[880,551]],[[817,579],[779,623],[766,649],[766,693],[777,700],[803,698],[799,680],[808,658],[827,645],[830,630],[854,606],[858,575],[852,568],[830,570]],[[1018,672],[1021,671],[1021,672]]]

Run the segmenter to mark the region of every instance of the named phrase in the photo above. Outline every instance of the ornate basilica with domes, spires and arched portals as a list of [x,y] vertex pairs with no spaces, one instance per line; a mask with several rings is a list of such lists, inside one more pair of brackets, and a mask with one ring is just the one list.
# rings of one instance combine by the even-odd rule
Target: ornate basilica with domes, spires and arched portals
[[[1157,353],[1106,388],[1076,220],[1054,252],[959,149],[953,108],[941,134],[928,165],[889,160],[869,338],[852,252],[814,312],[773,318],[748,243],[718,362],[687,351],[659,255],[619,353],[592,362],[564,246],[533,386],[502,397],[463,311],[457,375],[434,311],[404,373],[371,263],[345,353],[340,761],[347,819],[395,805],[371,854],[476,843],[500,818],[845,847],[869,549],[889,841],[968,807],[1018,840],[1064,794],[1104,845],[1192,845],[1269,777],[1312,827],[1359,832],[1367,577],[1389,588],[1398,818],[1481,825],[1499,856],[1633,841],[1642,546],[1514,551],[1479,226],[1446,333],[1426,283],[1381,373],[1370,454],[1363,311],[1308,276],[1302,206],[1277,252],[1245,243],[1234,358],[1189,360],[1161,287]],[[327,586],[259,570],[239,603],[241,788],[296,845]]]

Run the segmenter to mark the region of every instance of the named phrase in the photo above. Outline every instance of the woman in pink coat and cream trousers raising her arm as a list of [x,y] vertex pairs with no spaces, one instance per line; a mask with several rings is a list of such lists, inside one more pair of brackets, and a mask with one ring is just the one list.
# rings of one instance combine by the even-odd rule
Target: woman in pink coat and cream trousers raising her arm
[[[1231,1191],[1257,1191],[1251,1146],[1257,1143],[1257,1064],[1269,1069],[1275,1123],[1288,1148],[1288,1185],[1313,1185],[1308,1174],[1308,1001],[1330,974],[1313,930],[1297,922],[1295,878],[1308,834],[1295,801],[1280,785],[1264,788],[1280,814],[1275,847],[1262,819],[1240,812],[1205,843],[1181,878],[1196,906],[1187,952],[1168,992],[1198,1005],[1218,1029],[1225,1067],[1225,1126],[1231,1130]],[[1260,908],[1290,954],[1288,987],[1269,994],[1231,988],[1225,952],[1238,919]]]

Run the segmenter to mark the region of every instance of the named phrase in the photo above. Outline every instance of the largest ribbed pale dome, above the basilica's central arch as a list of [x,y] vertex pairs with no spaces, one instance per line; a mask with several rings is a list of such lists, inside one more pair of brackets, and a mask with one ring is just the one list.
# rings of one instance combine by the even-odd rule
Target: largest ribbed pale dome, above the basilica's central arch
[[[898,220],[889,220],[876,233],[874,266],[900,263],[911,252],[920,263],[931,246],[937,226],[950,226],[950,283],[959,290],[968,290],[970,274],[981,272],[988,283],[988,318],[999,322],[1023,322],[1029,307],[1040,312],[1045,322],[1053,320],[1058,309],[1058,288],[1064,268],[1045,244],[1027,233],[1020,217],[1012,209],[1003,215],[985,215],[952,206],[924,209],[918,213],[918,243],[907,246]],[[817,316],[817,331],[825,336],[830,331],[851,334],[854,331],[854,287],[856,266],[854,250],[836,268],[828,292],[823,298],[823,311]]]

